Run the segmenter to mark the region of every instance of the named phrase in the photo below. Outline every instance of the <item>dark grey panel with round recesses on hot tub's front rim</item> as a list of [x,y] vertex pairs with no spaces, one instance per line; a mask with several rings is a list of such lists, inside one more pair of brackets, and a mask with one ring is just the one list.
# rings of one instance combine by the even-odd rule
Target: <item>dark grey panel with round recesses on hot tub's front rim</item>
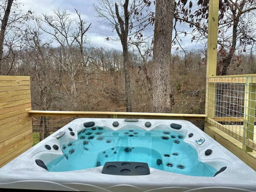
[[147,175],[150,174],[147,163],[143,162],[106,162],[103,174],[112,175]]

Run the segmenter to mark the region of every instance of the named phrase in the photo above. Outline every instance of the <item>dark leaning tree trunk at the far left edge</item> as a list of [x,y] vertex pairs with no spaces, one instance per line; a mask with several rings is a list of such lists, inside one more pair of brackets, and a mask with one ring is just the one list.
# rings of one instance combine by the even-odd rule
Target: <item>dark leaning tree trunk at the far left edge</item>
[[8,0],[8,2],[7,2],[6,9],[4,11],[4,17],[2,20],[1,31],[0,31],[0,75],[3,74],[2,73],[2,60],[3,60],[4,35],[5,35],[5,30],[7,27],[9,15],[11,12],[12,2],[13,2],[13,0]]

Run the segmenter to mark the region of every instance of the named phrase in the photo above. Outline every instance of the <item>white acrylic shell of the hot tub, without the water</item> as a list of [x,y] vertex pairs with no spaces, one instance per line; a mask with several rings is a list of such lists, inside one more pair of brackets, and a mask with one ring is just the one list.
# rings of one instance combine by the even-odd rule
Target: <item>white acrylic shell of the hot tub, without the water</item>
[[[95,122],[95,126],[110,127],[113,130],[129,129],[129,126],[138,129],[153,130],[166,129],[178,132],[186,137],[184,142],[196,149],[199,160],[213,166],[216,170],[226,166],[227,169],[215,177],[195,177],[166,172],[150,167],[148,175],[110,175],[102,174],[102,167],[91,169],[49,172],[38,166],[35,159],[41,159],[45,164],[62,155],[62,151],[47,150],[45,145],[58,145],[77,140],[77,133],[84,129],[84,122]],[[118,122],[118,126],[113,126]],[[145,123],[151,126],[146,127]],[[182,128],[175,130],[170,124],[180,124]],[[68,127],[75,135],[70,135]],[[57,139],[60,132],[65,134]],[[193,133],[189,138],[188,134]],[[198,145],[196,140],[203,137],[205,141]],[[205,156],[205,150],[212,149],[210,156]],[[78,118],[63,126],[34,147],[21,154],[13,161],[0,169],[0,190],[11,189],[38,189],[38,190],[68,190],[68,191],[256,191],[256,173],[234,154],[214,141],[211,137],[199,130],[194,124],[183,120],[138,119],[138,122],[125,119],[111,118]]]

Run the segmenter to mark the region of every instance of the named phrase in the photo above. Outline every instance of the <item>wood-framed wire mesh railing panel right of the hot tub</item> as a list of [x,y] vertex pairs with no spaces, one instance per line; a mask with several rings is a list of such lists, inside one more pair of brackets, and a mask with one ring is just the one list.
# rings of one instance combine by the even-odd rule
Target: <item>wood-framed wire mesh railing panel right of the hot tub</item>
[[255,149],[256,77],[211,77],[207,79],[206,113],[209,122]]

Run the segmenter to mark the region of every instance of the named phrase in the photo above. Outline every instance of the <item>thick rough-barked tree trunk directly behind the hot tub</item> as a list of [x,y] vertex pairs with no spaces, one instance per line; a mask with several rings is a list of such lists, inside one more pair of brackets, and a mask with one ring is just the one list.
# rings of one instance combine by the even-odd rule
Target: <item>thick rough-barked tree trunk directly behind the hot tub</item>
[[171,43],[174,18],[174,0],[156,1],[156,19],[153,48],[152,111],[170,113],[173,105],[171,85]]

